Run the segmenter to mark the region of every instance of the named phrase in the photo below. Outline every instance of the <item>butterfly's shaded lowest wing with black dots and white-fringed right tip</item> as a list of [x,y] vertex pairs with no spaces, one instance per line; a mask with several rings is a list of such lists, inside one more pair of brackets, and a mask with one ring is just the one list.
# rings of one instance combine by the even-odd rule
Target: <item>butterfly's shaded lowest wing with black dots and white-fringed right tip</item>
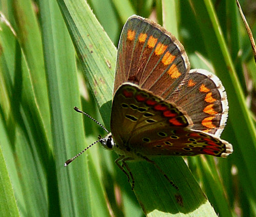
[[[232,146],[227,141],[195,130],[158,128],[132,135],[130,145],[146,156],[198,154],[227,157]],[[135,146],[135,147],[134,147]]]

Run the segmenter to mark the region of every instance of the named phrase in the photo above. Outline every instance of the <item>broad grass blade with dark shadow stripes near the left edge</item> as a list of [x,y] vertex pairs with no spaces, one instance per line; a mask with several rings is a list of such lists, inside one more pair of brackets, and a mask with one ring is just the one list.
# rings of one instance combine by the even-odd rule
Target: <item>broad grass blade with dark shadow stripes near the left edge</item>
[[[2,150],[20,213],[47,216],[46,175],[41,162],[51,163],[48,142],[22,50],[10,26],[2,25],[1,30],[1,57],[5,60],[1,62],[1,83],[6,99],[1,101],[1,114],[9,139]],[[15,61],[10,62],[11,58]],[[54,176],[51,181],[55,183]]]

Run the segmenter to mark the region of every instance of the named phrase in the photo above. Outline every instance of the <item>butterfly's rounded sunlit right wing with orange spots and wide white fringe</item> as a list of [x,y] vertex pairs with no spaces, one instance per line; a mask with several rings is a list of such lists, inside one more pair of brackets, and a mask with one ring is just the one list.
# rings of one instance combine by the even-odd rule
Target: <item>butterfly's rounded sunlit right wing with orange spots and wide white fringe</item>
[[194,130],[220,136],[225,127],[228,102],[217,76],[203,69],[190,70],[176,91],[166,99],[181,107]]

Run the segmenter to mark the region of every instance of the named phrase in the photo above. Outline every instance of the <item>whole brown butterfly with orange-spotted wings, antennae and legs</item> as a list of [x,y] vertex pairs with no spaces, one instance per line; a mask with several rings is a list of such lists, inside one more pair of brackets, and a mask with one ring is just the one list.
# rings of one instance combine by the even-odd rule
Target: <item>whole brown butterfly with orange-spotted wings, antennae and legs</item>
[[183,45],[157,23],[137,15],[126,21],[117,51],[112,133],[89,117],[109,133],[93,144],[115,150],[115,162],[132,189],[134,178],[126,161],[146,160],[164,174],[152,157],[231,154],[231,144],[220,138],[227,116],[227,95],[217,76],[190,70]]

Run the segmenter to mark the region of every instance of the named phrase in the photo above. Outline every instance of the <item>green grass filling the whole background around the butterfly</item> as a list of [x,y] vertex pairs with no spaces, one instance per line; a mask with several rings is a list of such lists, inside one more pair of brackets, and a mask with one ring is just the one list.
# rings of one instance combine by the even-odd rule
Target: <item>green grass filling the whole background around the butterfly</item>
[[[256,2],[240,1],[256,35]],[[1,0],[0,216],[256,216],[256,67],[233,0]],[[228,96],[227,159],[162,157],[131,163],[135,191],[92,147],[110,130],[116,47],[137,14],[172,32],[191,68],[215,73]],[[102,29],[103,28],[103,29]],[[206,197],[207,199],[206,199]]]

